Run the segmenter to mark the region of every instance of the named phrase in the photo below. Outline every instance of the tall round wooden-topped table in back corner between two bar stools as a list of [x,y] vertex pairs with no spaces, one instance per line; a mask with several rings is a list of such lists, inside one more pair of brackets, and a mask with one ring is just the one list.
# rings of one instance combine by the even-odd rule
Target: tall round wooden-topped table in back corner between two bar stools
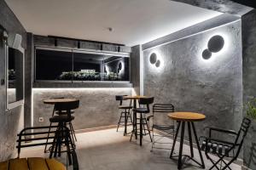
[[[131,95],[131,96],[124,96],[124,99],[132,99],[133,101],[133,128],[132,128],[132,133],[134,133],[135,135],[135,139],[137,139],[137,113],[135,111],[135,109],[137,108],[137,100],[138,99],[145,99],[147,98],[147,96],[143,96],[143,95]],[[140,128],[140,130],[142,130],[142,128]],[[130,139],[131,141],[131,139]],[[140,145],[142,145],[142,137],[140,137]]]

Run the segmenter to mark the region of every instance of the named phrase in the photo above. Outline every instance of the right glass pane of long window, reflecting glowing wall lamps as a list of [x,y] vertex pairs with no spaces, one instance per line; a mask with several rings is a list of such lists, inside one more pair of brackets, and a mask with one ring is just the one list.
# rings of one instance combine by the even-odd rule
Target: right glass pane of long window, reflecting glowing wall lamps
[[105,56],[105,81],[129,81],[129,58]]

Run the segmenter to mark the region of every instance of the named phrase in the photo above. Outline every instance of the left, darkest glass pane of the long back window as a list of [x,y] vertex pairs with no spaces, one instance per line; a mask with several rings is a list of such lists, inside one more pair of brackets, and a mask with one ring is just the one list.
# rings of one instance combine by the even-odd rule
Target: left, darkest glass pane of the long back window
[[73,56],[71,52],[37,49],[37,80],[72,80]]

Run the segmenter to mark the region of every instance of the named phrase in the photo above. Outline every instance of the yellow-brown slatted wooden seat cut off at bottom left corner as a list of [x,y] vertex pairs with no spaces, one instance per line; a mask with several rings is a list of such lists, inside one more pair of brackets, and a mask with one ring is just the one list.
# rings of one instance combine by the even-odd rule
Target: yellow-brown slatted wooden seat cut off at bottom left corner
[[66,170],[66,167],[55,159],[30,157],[0,162],[0,170]]

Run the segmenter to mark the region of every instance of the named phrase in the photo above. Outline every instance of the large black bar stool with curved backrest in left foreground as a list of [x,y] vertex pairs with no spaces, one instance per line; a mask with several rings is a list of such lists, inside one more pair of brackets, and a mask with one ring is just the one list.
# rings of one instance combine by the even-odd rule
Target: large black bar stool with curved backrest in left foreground
[[[70,150],[75,149],[75,144],[74,144],[73,135],[70,134],[72,130],[67,128],[67,123],[70,124],[70,122],[74,120],[74,116],[71,116],[71,111],[77,108],[79,108],[79,100],[74,100],[74,101],[65,102],[65,103],[55,103],[55,111],[58,111],[59,113],[65,112],[66,114],[59,114],[57,116],[52,116],[49,118],[49,122],[51,124],[58,123],[53,144],[49,149],[50,157],[53,154],[54,156],[56,156],[57,153],[58,153],[58,156],[61,156],[61,144],[63,144],[63,140],[67,141],[67,139],[70,138],[71,140],[68,140],[69,141],[68,144],[67,142],[66,143],[64,142],[64,144],[67,147],[68,159],[71,160]],[[49,130],[50,128],[51,126],[49,127]],[[65,129],[68,129],[68,131]]]

